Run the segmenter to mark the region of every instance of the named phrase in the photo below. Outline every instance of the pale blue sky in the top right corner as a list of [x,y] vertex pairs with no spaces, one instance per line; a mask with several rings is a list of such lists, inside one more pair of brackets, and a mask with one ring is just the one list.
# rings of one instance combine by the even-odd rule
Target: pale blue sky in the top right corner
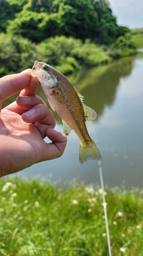
[[143,28],[143,0],[108,0],[117,24],[130,29]]

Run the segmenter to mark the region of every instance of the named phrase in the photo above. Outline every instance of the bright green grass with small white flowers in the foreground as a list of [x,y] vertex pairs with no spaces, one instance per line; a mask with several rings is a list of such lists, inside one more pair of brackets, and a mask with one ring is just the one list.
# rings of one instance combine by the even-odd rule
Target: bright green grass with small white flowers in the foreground
[[[0,191],[0,255],[108,255],[98,185],[15,178],[1,179]],[[106,191],[112,256],[143,255],[143,190]]]

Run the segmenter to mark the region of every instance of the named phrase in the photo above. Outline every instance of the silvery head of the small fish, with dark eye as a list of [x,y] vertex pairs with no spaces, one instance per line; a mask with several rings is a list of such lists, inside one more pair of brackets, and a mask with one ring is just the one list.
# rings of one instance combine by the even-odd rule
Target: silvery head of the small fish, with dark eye
[[31,76],[37,76],[42,86],[53,88],[58,82],[56,70],[45,62],[35,61]]

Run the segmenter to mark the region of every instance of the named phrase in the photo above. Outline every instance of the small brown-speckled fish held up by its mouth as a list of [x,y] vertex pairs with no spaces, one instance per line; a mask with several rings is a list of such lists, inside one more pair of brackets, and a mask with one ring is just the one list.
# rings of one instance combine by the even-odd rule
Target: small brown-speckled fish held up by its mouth
[[86,121],[94,120],[97,113],[83,103],[83,96],[60,71],[45,62],[35,61],[31,76],[37,76],[47,96],[49,105],[62,118],[63,133],[68,136],[74,130],[79,146],[79,161],[101,160],[101,154],[90,138]]

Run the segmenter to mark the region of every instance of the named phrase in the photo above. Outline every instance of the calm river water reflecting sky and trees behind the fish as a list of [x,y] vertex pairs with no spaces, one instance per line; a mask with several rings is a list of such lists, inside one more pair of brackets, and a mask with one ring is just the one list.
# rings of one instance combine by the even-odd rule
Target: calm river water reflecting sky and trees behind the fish
[[[109,187],[142,187],[143,52],[67,77],[84,96],[84,103],[97,112],[97,119],[87,122],[87,127],[91,138],[98,141],[104,183]],[[47,102],[41,87],[38,94]],[[62,132],[61,118],[54,116],[55,129]],[[50,177],[52,181],[78,177],[85,184],[100,184],[98,161],[90,160],[81,165],[78,154],[79,139],[72,131],[61,158],[35,164],[17,175],[39,175]]]

